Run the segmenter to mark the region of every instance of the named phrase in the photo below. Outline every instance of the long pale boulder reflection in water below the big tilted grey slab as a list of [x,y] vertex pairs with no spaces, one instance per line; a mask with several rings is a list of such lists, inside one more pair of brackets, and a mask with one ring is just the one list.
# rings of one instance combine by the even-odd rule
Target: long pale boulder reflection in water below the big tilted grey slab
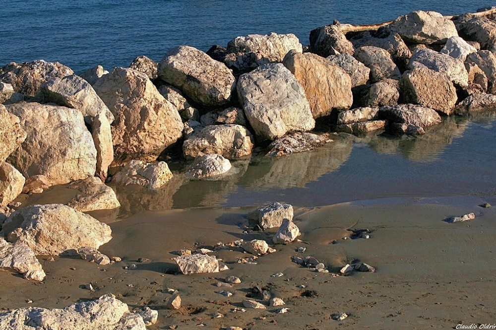
[[348,159],[353,148],[352,140],[339,135],[332,138],[334,142],[312,151],[252,159],[240,185],[257,191],[305,187],[322,175],[336,171]]

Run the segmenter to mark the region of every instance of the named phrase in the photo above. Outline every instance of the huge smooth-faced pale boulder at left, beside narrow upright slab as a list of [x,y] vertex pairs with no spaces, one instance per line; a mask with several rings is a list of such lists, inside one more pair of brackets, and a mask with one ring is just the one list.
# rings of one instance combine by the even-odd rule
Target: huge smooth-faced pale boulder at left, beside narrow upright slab
[[96,149],[79,110],[39,103],[16,103],[7,111],[27,132],[8,162],[24,177],[42,174],[53,185],[95,174]]

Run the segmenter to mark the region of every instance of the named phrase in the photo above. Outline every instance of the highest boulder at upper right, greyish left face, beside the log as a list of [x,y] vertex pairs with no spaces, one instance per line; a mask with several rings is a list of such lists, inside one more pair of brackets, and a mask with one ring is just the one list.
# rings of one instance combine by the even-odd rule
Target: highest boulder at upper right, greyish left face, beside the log
[[455,24],[435,11],[414,11],[399,16],[388,29],[413,44],[443,44],[446,39],[458,36]]

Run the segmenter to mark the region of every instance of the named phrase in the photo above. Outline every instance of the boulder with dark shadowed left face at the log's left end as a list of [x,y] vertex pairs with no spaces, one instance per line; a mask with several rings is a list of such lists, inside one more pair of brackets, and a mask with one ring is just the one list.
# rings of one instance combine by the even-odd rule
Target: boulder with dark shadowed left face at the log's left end
[[310,50],[322,57],[342,53],[353,56],[353,44],[336,25],[325,25],[310,31]]

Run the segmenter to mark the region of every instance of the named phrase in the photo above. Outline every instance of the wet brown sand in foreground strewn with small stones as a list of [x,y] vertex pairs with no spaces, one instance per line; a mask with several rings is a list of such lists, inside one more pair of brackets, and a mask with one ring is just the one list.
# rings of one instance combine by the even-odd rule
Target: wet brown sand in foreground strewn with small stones
[[[98,266],[78,258],[39,257],[47,278],[41,283],[18,274],[0,272],[0,307],[62,308],[74,302],[113,293],[131,308],[149,306],[159,311],[159,322],[148,329],[448,329],[459,323],[496,323],[496,197],[385,198],[316,208],[298,208],[295,223],[308,242],[273,246],[278,251],[262,256],[258,264],[238,264],[239,251],[213,255],[229,270],[214,274],[176,274],[173,251],[212,248],[218,242],[266,239],[275,232],[244,233],[245,215],[255,207],[200,207],[148,211],[108,222],[113,239],[100,248],[123,262]],[[447,217],[469,212],[476,219],[446,223]],[[372,230],[370,239],[346,239],[350,228]],[[306,247],[304,254],[295,250]],[[291,256],[312,256],[332,272],[353,260],[376,268],[333,277],[291,262]],[[148,258],[149,263],[137,263]],[[137,264],[126,270],[125,265]],[[75,268],[75,269],[71,269]],[[283,272],[281,277],[271,277]],[[217,287],[226,276],[241,278],[233,288]],[[95,292],[84,289],[92,283]],[[250,288],[268,287],[272,297],[286,302],[289,312],[241,308]],[[305,289],[298,287],[305,285]],[[166,288],[179,290],[180,310],[168,310]],[[231,291],[224,297],[218,290]],[[305,290],[318,296],[303,297]],[[26,300],[33,302],[28,304]],[[268,306],[267,302],[263,302]],[[223,318],[210,314],[219,312]],[[345,312],[344,321],[331,315]],[[171,328],[171,329],[172,329]],[[200,328],[201,329],[201,328]]]

